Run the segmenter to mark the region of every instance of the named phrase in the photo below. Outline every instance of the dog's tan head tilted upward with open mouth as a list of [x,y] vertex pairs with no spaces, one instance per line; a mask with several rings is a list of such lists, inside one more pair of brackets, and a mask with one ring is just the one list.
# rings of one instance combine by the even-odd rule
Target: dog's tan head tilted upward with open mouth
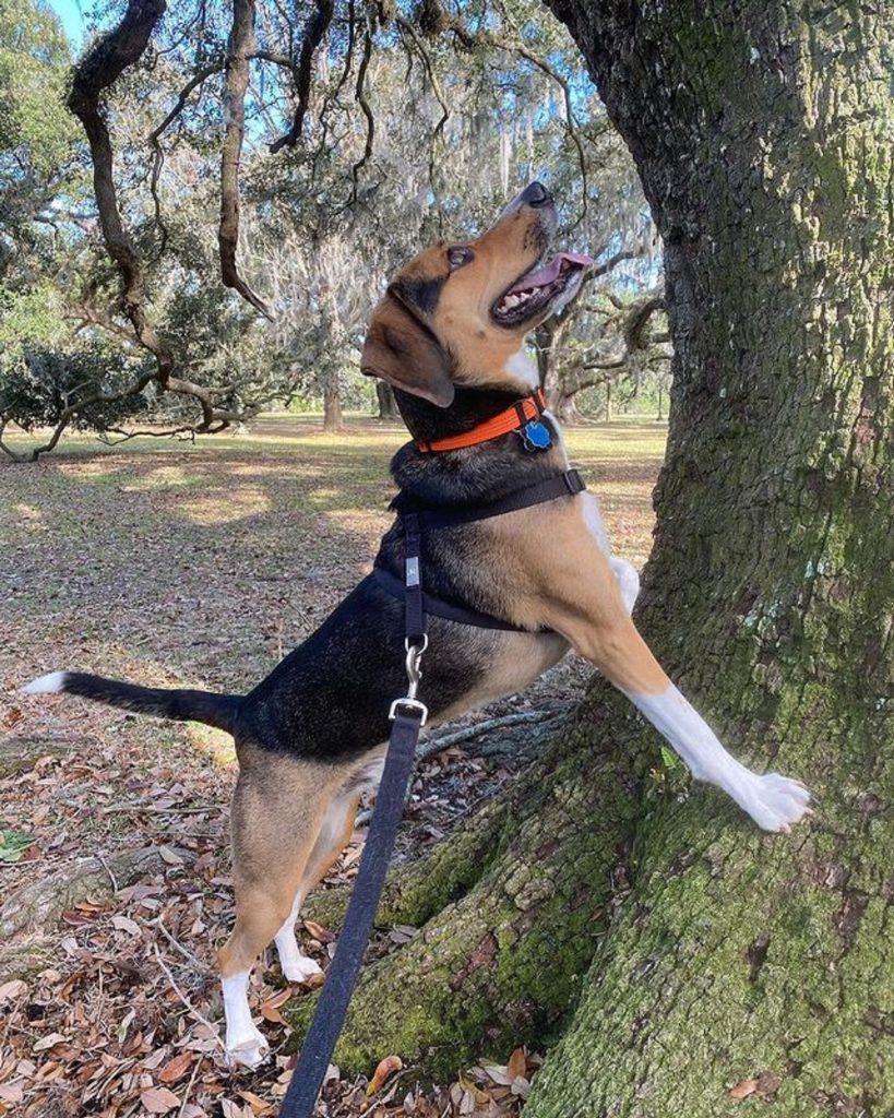
[[559,253],[536,268],[555,224],[551,195],[532,182],[477,240],[417,256],[372,313],[363,372],[439,407],[456,385],[530,392],[524,337],[573,297],[591,263]]

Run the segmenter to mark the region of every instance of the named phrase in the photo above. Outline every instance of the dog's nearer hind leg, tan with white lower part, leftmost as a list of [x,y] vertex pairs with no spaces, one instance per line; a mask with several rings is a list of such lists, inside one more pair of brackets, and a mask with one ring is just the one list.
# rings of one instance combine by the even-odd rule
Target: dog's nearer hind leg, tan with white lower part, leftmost
[[227,1060],[254,1068],[268,1048],[248,1005],[251,967],[289,917],[327,804],[343,775],[331,766],[275,755],[247,760],[232,798],[236,923],[218,960]]

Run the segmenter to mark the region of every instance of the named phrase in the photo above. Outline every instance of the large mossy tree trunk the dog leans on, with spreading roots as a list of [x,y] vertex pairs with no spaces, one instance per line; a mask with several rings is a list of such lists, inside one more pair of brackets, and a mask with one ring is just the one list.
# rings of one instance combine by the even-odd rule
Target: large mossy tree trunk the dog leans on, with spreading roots
[[894,13],[553,8],[665,241],[675,377],[639,627],[744,760],[820,806],[767,836],[713,789],[662,795],[654,733],[597,681],[513,802],[435,855],[448,887],[401,908],[392,883],[387,916],[422,930],[369,968],[339,1062],[505,1058],[563,1021],[525,1118],[755,1099],[886,1118]]

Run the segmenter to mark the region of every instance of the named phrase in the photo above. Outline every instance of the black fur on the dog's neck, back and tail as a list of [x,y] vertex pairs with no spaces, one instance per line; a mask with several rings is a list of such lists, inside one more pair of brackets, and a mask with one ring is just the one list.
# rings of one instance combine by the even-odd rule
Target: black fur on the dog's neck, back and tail
[[[437,438],[475,426],[519,395],[460,387],[449,408],[400,391],[397,397],[410,430]],[[457,508],[486,504],[558,471],[552,455],[529,454],[512,433],[448,454],[421,454],[409,443],[394,455],[391,472],[400,487],[398,508]],[[498,614],[500,571],[481,569],[481,531],[479,524],[467,524],[427,532],[422,581],[435,597]],[[375,565],[402,577],[399,520],[383,537]],[[429,632],[421,695],[438,716],[475,688],[504,634],[437,617],[429,618]],[[237,742],[273,752],[344,761],[387,739],[390,703],[406,690],[403,656],[403,605],[368,578],[245,697],[141,688],[82,673],[66,673],[64,690],[127,710],[207,722]]]

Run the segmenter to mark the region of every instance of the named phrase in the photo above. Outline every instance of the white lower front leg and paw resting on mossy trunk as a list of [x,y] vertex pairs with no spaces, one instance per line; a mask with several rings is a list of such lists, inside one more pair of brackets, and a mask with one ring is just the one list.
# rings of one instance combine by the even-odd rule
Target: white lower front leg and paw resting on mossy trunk
[[675,686],[659,695],[625,694],[663,735],[698,780],[722,788],[764,831],[790,831],[809,809],[810,793],[778,773],[761,776],[726,752]]

